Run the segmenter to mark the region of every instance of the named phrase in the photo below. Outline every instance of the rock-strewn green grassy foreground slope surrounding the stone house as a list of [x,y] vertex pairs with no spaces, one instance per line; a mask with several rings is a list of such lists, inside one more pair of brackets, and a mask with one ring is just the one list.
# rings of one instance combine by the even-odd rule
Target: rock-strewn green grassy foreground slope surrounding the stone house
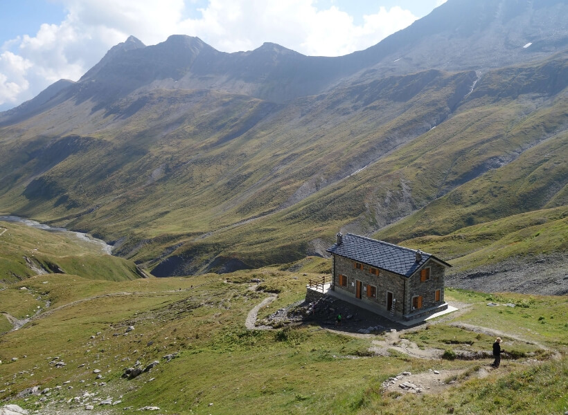
[[[265,268],[224,277],[125,282],[73,277],[73,289],[64,275],[31,277],[27,291],[19,289],[23,283],[10,284],[0,291],[1,303],[11,304],[8,313],[24,312],[18,302],[7,301],[15,295],[52,304],[23,329],[1,335],[0,399],[48,413],[78,412],[89,403],[94,413],[110,414],[139,413],[146,406],[177,414],[440,414],[450,407],[456,414],[481,408],[533,414],[535,405],[542,413],[568,410],[564,297],[447,291],[446,299],[459,302],[461,313],[400,333],[423,349],[477,352],[490,349],[491,330],[503,331],[504,349],[515,360],[504,360],[496,371],[486,369],[488,358],[420,359],[393,350],[378,356],[373,347],[387,333],[349,335],[312,324],[245,329],[247,313],[267,297],[254,289],[252,278],[281,290],[258,314],[263,318],[303,297],[305,283],[317,276],[304,271],[316,264],[308,261],[296,273]],[[488,307],[488,301],[517,307]],[[134,330],[127,332],[128,326]],[[171,353],[177,355],[163,358]],[[154,360],[159,364],[132,380],[121,378],[137,360],[142,368]],[[56,369],[57,362],[65,365]],[[382,382],[403,371],[429,376],[432,369],[443,381],[432,394],[383,389]],[[33,386],[51,393],[17,397]],[[98,405],[107,398],[121,402]]]

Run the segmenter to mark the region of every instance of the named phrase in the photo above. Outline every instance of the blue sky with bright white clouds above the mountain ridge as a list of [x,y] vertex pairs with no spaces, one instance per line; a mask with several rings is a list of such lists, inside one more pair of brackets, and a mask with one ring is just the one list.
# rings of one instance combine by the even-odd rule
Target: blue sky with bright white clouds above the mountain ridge
[[304,55],[362,50],[446,0],[0,0],[0,111],[73,81],[134,35],[197,36],[223,52],[274,42]]

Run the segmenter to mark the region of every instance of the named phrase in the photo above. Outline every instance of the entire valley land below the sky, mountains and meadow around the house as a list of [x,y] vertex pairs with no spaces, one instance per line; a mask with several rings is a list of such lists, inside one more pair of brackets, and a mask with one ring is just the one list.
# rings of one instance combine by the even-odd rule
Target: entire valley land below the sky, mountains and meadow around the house
[[[73,393],[100,367],[108,387],[97,386],[94,405],[105,394],[127,404],[104,407],[113,414],[152,405],[178,414],[564,414],[567,160],[565,0],[448,0],[340,57],[272,43],[224,53],[186,35],[145,46],[131,36],[77,82],[0,113],[0,215],[113,246],[102,255],[0,222],[0,331],[40,310],[0,335],[0,399],[25,406],[26,388],[69,380],[76,390],[47,398],[55,406],[45,413],[82,412],[91,389]],[[303,299],[309,278],[329,273],[337,232],[452,264],[447,297],[464,305],[462,326],[401,333],[380,352],[366,335],[245,329],[263,295],[278,294],[256,309],[268,324]],[[517,342],[504,345],[511,356],[538,364],[483,374],[465,358],[396,351],[411,342],[475,356],[497,330],[517,333],[503,335]],[[31,357],[37,344],[41,357]],[[120,378],[135,360],[162,355],[155,380]],[[55,369],[63,358],[54,356],[69,366]],[[377,356],[388,365],[371,364]],[[389,377],[433,365],[438,395],[385,391]],[[183,377],[195,382],[172,387]]]

